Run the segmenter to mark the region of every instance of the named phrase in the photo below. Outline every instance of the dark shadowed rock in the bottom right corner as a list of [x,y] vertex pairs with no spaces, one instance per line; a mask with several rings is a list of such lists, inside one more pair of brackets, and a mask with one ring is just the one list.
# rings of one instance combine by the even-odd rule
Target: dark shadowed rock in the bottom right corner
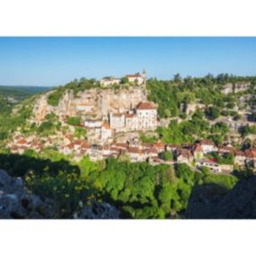
[[187,218],[256,218],[256,177],[240,180],[228,192],[215,185],[195,187],[188,202]]

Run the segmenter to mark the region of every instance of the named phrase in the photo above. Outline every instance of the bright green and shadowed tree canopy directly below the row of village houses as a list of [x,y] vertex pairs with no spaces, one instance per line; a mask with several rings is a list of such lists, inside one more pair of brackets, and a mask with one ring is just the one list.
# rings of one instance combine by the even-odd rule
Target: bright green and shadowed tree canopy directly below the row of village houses
[[23,156],[0,154],[0,168],[22,175],[32,192],[49,197],[59,207],[56,217],[72,217],[96,198],[121,210],[128,218],[168,218],[186,215],[193,187],[214,183],[230,189],[237,178],[195,172],[186,164],[151,166],[108,159],[78,164],[54,151]]

